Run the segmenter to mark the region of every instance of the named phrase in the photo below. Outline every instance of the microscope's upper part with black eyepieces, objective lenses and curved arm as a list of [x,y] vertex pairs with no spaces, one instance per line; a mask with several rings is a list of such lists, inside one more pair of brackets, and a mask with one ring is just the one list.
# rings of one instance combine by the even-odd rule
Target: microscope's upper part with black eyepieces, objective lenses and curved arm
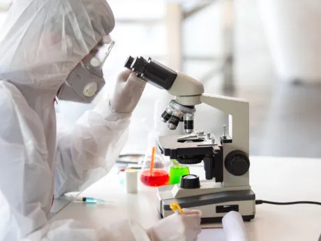
[[170,129],[176,129],[179,120],[184,116],[184,130],[186,133],[191,133],[193,131],[194,106],[206,103],[230,115],[229,134],[232,136],[232,143],[234,147],[248,154],[248,102],[238,98],[203,94],[204,87],[201,82],[184,73],[167,68],[151,58],[146,60],[142,57],[136,57],[135,59],[128,57],[125,66],[137,73],[137,76],[142,80],[150,82],[160,89],[167,90],[172,96],[176,96],[175,101],[171,101],[172,105],[168,108],[168,111],[165,110],[162,114],[163,121],[168,121]]

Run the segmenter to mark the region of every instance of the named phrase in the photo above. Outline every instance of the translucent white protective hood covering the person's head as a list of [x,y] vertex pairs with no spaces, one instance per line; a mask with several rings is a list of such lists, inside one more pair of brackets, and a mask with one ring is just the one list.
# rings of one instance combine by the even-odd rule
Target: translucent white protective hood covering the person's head
[[104,0],[16,0],[1,29],[0,79],[56,94],[113,28]]

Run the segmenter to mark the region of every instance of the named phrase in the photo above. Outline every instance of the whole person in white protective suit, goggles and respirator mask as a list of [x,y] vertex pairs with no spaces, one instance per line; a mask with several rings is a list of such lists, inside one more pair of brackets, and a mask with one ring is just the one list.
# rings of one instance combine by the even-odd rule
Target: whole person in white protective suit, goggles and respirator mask
[[198,210],[147,230],[132,219],[107,227],[47,220],[54,197],[82,191],[112,168],[144,90],[126,70],[112,98],[72,129],[57,125],[55,98],[90,103],[105,84],[113,28],[105,0],[13,2],[0,30],[0,241],[197,240]]

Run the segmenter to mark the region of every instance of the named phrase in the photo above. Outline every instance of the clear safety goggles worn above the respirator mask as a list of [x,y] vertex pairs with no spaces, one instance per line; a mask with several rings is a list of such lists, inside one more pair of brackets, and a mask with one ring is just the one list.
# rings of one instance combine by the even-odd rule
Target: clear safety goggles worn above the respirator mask
[[114,47],[114,41],[109,35],[104,36],[101,41],[89,52],[91,57],[89,64],[94,68],[103,68],[105,61]]

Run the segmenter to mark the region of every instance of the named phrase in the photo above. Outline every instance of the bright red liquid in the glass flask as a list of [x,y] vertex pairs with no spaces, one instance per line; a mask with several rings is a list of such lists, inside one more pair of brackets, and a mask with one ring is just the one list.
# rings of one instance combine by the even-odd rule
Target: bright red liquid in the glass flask
[[159,187],[168,184],[168,180],[170,176],[168,175],[167,171],[154,169],[151,173],[149,170],[145,170],[140,175],[140,180],[147,186],[151,187]]

